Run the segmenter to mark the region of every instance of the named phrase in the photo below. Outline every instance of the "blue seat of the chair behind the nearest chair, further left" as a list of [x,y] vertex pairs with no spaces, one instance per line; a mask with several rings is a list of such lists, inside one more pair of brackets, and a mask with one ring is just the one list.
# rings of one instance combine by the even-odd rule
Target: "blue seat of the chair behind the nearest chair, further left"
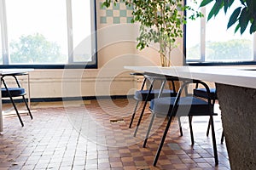
[[[148,91],[149,90],[138,90],[134,95],[134,99],[137,99],[139,101],[145,101],[148,95]],[[153,89],[148,96],[148,101],[150,101],[151,99],[157,98],[159,94],[160,94],[160,89]],[[173,90],[164,89],[161,94],[161,97],[171,97],[171,96],[173,97],[177,96],[177,93],[174,93]]]

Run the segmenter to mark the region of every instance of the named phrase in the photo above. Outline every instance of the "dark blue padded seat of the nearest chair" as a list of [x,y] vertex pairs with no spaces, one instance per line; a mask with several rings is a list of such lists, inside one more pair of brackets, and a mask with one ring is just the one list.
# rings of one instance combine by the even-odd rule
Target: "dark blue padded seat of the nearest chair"
[[[150,110],[156,114],[166,116],[172,111],[176,97],[152,99]],[[208,102],[195,97],[181,97],[178,102],[177,116],[210,116]]]

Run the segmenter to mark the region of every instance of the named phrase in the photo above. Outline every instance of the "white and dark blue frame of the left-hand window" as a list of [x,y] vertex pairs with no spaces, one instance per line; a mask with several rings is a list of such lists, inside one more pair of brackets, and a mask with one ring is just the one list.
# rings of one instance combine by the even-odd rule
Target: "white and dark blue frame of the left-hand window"
[[[94,35],[91,39],[92,43],[92,52],[94,53],[91,56],[91,61],[89,62],[75,62],[73,61],[73,54],[70,53],[73,51],[73,37],[72,37],[72,12],[71,12],[71,2],[72,0],[67,0],[67,42],[68,42],[68,63],[67,64],[11,64],[11,65],[0,65],[0,69],[10,69],[10,68],[34,68],[34,69],[97,69],[97,35],[96,35],[96,0],[90,0],[90,18],[91,18],[91,35]],[[9,58],[9,42],[8,42],[8,28],[7,28],[7,18],[6,18],[6,6],[5,0],[0,0],[0,8],[3,11],[0,14],[0,27],[2,34],[2,55],[3,59]],[[5,36],[3,36],[5,35]]]

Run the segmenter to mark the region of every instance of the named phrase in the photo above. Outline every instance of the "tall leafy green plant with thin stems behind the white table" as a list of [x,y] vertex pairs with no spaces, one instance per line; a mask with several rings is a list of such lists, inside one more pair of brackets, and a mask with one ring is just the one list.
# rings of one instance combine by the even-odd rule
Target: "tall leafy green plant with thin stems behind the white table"
[[[193,11],[191,20],[201,17],[201,12],[184,6],[182,0],[105,0],[102,6],[124,2],[134,8],[131,23],[140,24],[137,48],[142,50],[150,43],[159,43],[161,66],[171,65],[171,51],[177,47],[177,38],[183,37],[186,24],[185,10]],[[195,1],[196,3],[196,1]]]

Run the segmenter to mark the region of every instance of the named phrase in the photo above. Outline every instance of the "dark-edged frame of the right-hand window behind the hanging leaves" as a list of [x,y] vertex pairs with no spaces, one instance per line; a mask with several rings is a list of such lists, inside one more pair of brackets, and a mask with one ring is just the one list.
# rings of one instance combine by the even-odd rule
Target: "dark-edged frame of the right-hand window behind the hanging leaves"
[[[187,0],[184,1],[184,5],[186,5],[186,4],[187,4]],[[203,7],[203,8],[201,8],[201,10],[202,10],[202,13],[206,16],[207,14],[205,14],[206,13],[206,9],[205,8],[206,7]],[[187,12],[186,11],[184,11],[184,15],[187,16]],[[202,24],[202,22],[203,23],[207,23],[206,22],[206,20],[207,20],[206,17],[201,18],[199,20],[201,20],[201,24]],[[212,20],[214,20],[214,19],[212,19]],[[254,33],[252,35],[252,37],[253,37],[253,60],[251,60],[251,61],[247,61],[247,60],[245,60],[245,61],[232,61],[232,62],[231,61],[230,62],[221,62],[221,61],[208,62],[208,61],[205,61],[205,47],[206,47],[206,41],[205,41],[206,37],[205,36],[201,37],[202,40],[204,40],[204,41],[201,40],[200,45],[204,49],[201,49],[201,57],[200,57],[200,59],[188,59],[187,60],[187,45],[186,44],[187,44],[188,40],[187,40],[187,36],[186,36],[186,30],[187,30],[187,26],[184,25],[183,26],[183,55],[184,55],[183,63],[184,63],[184,65],[191,65],[191,66],[193,66],[193,65],[195,65],[195,66],[200,66],[200,65],[201,66],[213,66],[213,65],[256,65],[256,33]],[[201,30],[206,31],[206,25],[201,26]],[[204,50],[204,52],[202,52],[203,50]]]

